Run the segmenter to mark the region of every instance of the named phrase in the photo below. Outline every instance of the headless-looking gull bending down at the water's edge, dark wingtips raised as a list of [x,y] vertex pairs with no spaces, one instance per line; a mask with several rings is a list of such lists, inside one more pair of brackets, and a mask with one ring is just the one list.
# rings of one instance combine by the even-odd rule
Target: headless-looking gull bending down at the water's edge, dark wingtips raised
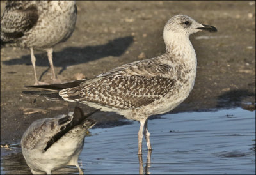
[[[96,111],[95,111],[96,112]],[[84,146],[84,137],[95,121],[88,119],[94,112],[83,114],[75,107],[74,113],[34,121],[21,139],[23,156],[33,174],[51,174],[52,171],[74,165]]]

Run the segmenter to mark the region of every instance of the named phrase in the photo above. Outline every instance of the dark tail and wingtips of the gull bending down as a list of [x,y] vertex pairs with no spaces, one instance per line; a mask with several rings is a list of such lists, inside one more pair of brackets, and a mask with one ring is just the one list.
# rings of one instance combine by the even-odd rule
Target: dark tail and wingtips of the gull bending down
[[96,124],[96,121],[94,121],[93,119],[87,119],[87,118],[89,116],[92,116],[92,114],[94,114],[95,112],[98,112],[99,110],[100,109],[97,109],[88,114],[84,114],[83,110],[80,107],[75,107],[73,118],[71,121],[70,121],[70,118],[68,118],[69,116],[65,116],[64,118],[59,119],[58,123],[63,123],[63,122],[65,123],[65,121],[70,121],[70,123],[67,123],[67,125],[65,125],[64,127],[62,126],[61,127],[62,129],[60,129],[60,132],[56,133],[54,136],[51,137],[51,139],[49,139],[46,147],[44,148],[44,151],[47,151],[47,149],[49,149],[52,146],[52,144],[54,144],[54,142],[57,142],[58,139],[60,139],[63,135],[65,135],[67,132],[72,130],[75,126],[83,123],[84,121],[89,123],[88,127],[85,128],[85,130],[88,130],[89,128],[91,128],[93,125]]

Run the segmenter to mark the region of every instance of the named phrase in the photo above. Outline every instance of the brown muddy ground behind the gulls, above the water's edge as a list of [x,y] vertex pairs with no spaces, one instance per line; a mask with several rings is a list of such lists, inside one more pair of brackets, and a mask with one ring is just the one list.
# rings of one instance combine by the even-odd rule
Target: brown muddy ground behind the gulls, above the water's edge
[[[4,1],[1,1],[1,14]],[[72,36],[54,48],[58,77],[90,78],[116,66],[156,57],[165,52],[164,24],[179,13],[218,29],[190,39],[198,58],[193,91],[172,112],[243,107],[255,110],[255,1],[77,1],[77,24]],[[41,80],[51,82],[47,54],[36,52]],[[24,95],[34,83],[29,50],[1,49],[1,144],[20,141],[36,119],[67,114],[76,103],[50,102]],[[93,110],[85,105],[85,112]],[[152,118],[157,116],[152,116]],[[95,127],[129,122],[113,112],[98,112]]]

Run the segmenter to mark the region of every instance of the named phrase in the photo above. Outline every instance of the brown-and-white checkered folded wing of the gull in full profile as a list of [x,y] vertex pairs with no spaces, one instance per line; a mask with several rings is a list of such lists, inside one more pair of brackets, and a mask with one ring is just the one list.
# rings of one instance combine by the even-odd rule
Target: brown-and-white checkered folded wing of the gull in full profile
[[70,102],[92,102],[118,110],[138,108],[175,89],[176,74],[173,66],[159,63],[157,59],[136,61],[77,87],[63,89],[59,95]]

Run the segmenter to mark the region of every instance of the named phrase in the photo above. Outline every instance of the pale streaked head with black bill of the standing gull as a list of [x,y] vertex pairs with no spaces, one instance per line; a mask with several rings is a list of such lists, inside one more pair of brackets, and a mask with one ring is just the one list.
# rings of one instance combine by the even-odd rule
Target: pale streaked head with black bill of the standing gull
[[175,15],[164,26],[163,38],[168,40],[173,34],[189,37],[198,31],[216,32],[217,29],[214,26],[200,24],[186,15]]

